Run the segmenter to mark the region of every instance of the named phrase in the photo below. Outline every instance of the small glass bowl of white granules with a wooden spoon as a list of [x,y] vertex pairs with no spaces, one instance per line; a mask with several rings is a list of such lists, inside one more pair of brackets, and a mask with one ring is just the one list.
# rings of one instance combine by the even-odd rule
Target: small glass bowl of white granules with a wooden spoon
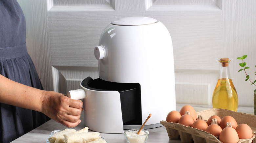
[[139,129],[133,129],[124,133],[127,143],[145,143],[148,139],[149,132],[142,129],[137,135]]

